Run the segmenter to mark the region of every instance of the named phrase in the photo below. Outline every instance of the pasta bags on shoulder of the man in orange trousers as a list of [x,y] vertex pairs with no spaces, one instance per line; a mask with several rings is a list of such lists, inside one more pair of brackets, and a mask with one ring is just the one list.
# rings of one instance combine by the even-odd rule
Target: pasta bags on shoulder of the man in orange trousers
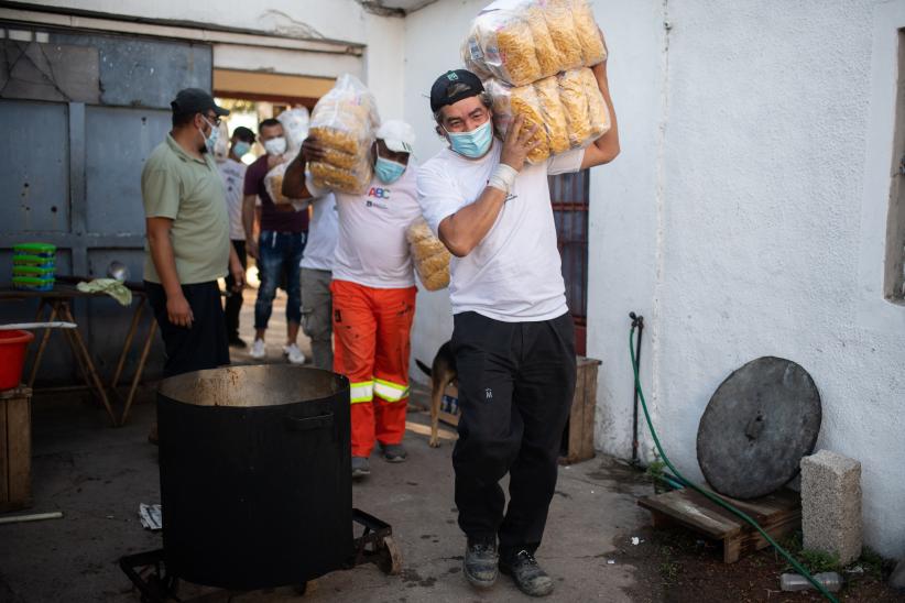
[[373,95],[345,74],[324,95],[312,113],[310,135],[325,147],[324,161],[308,169],[315,186],[361,195],[373,176],[371,145],[380,125]]

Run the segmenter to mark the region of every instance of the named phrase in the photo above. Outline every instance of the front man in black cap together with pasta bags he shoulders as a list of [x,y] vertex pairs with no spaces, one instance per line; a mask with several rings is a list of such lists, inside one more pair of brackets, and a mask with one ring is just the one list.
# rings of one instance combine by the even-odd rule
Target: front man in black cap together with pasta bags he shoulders
[[[492,7],[464,46],[466,64],[488,86],[473,72],[456,69],[432,87],[430,110],[448,147],[418,171],[418,197],[455,256],[450,344],[462,414],[452,464],[459,527],[468,540],[464,573],[475,586],[489,588],[502,571],[526,594],[543,596],[554,582],[534,553],[576,379],[547,176],[611,162],[619,134],[606,46],[587,3],[523,2],[505,14],[492,14]],[[495,37],[482,40],[482,31]],[[557,41],[581,35],[587,54],[585,46],[570,54],[563,46],[559,64],[541,65],[546,40],[558,48]],[[502,59],[517,64],[489,52],[503,42],[511,47]],[[513,74],[517,81],[504,79]],[[504,138],[494,136],[494,121]],[[506,473],[508,506],[499,483]]]

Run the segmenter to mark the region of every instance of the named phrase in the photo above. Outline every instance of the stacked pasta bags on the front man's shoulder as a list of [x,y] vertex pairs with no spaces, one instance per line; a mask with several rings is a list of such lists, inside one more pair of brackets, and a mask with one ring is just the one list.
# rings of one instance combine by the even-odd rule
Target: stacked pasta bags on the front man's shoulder
[[541,144],[528,155],[582,149],[610,129],[610,112],[589,67],[607,50],[588,0],[499,0],[475,19],[462,44],[466,67],[493,98],[497,130],[505,136],[524,116]]

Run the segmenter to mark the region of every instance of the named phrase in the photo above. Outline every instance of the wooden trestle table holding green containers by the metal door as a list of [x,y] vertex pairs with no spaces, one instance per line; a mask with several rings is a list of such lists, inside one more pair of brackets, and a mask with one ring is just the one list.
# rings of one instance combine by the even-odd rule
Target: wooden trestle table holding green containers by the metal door
[[[87,281],[87,278],[85,279]],[[61,281],[69,282],[67,283]],[[72,282],[78,281],[81,281],[81,278],[58,276],[57,284],[54,286],[52,290],[47,292],[0,288],[0,302],[13,299],[37,299],[39,306],[35,320],[67,320],[70,322],[76,322],[72,311],[72,302],[74,299],[109,297],[105,293],[84,293],[78,290],[78,288],[76,288],[76,286],[72,284]],[[127,286],[129,286],[130,290],[132,292],[133,299],[138,299],[138,304],[135,305],[135,309],[132,313],[132,321],[129,327],[129,331],[126,336],[126,340],[122,346],[122,351],[119,355],[119,361],[117,362],[117,369],[110,382],[110,388],[115,395],[117,392],[117,385],[119,383],[120,376],[122,376],[123,366],[126,365],[126,357],[129,354],[129,350],[132,346],[132,341],[134,339],[139,321],[141,320],[141,315],[144,310],[144,307],[148,305],[148,296],[144,293],[144,287],[140,283],[128,283]],[[130,384],[129,388],[129,395],[126,398],[126,405],[121,417],[117,417],[113,413],[112,407],[110,406],[110,398],[107,395],[107,391],[103,386],[103,382],[100,379],[100,375],[98,375],[95,362],[91,359],[91,353],[88,350],[88,346],[85,343],[85,339],[81,337],[80,329],[61,329],[61,331],[64,335],[64,338],[66,339],[67,343],[69,344],[69,348],[73,351],[73,357],[75,358],[76,364],[78,364],[79,372],[81,373],[81,376],[85,380],[85,385],[89,390],[94,391],[95,395],[107,410],[107,414],[110,417],[110,423],[113,426],[122,425],[123,423],[126,423],[126,418],[129,415],[129,409],[132,406],[132,401],[135,396],[135,391],[138,390],[139,382],[141,381],[141,375],[144,371],[144,365],[148,362],[148,354],[151,350],[151,343],[154,339],[156,327],[156,320],[152,319],[151,326],[148,330],[148,336],[145,337],[145,340],[142,344],[139,365],[135,369],[134,376],[132,377],[132,383]],[[41,360],[44,357],[44,351],[46,350],[47,342],[51,339],[51,329],[44,329],[43,335],[40,335],[39,339],[40,343],[37,346],[37,352],[34,357],[32,370],[26,381],[29,387],[32,387],[34,385],[34,381],[37,377],[37,371],[41,366]]]

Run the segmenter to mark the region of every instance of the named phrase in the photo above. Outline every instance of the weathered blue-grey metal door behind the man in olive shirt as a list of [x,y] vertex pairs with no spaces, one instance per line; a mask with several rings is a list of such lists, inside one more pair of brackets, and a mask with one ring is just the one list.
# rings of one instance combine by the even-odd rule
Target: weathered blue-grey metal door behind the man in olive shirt
[[[10,248],[23,241],[56,244],[59,274],[106,276],[119,260],[140,281],[141,169],[170,130],[176,92],[210,89],[210,46],[9,22],[0,29],[0,283],[10,283]],[[2,321],[34,311],[0,306]],[[76,308],[105,379],[130,313],[112,299]],[[68,351],[58,348],[48,350],[40,377],[74,374]]]

